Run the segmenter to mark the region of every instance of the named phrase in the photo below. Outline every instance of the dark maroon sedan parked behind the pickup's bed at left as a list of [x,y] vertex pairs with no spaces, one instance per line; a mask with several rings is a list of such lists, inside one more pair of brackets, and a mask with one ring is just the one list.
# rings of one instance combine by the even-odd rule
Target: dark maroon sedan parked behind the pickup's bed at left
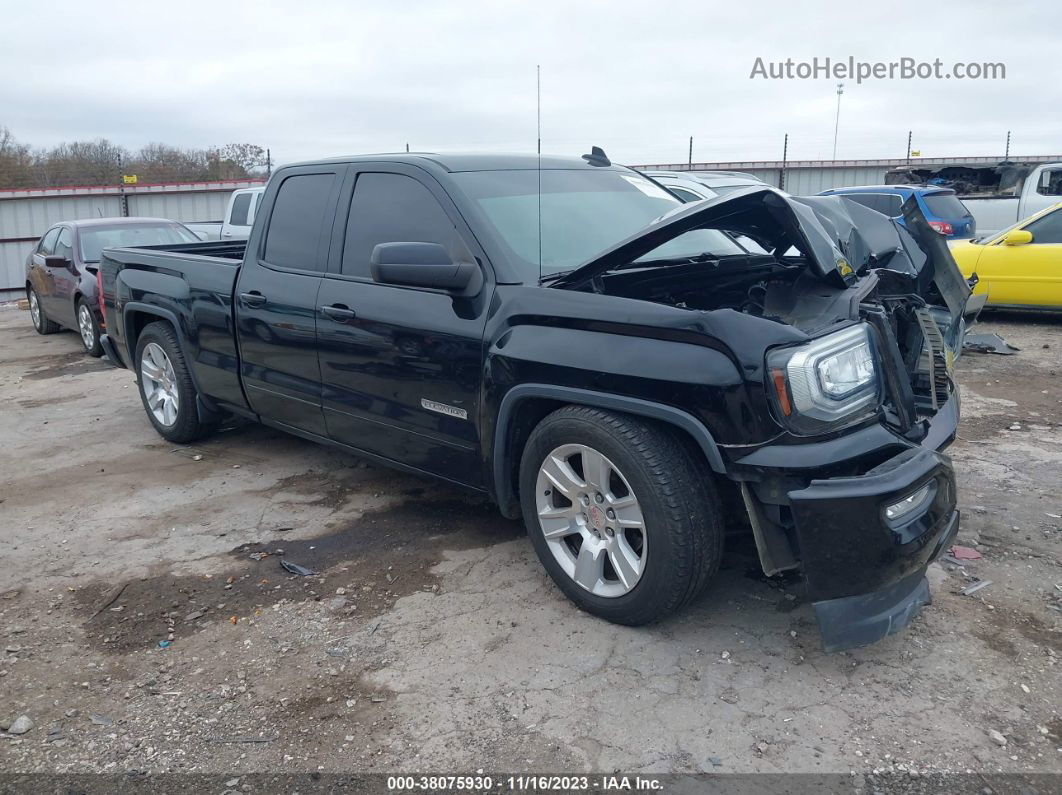
[[85,350],[101,356],[97,271],[100,253],[113,246],[198,243],[186,226],[158,218],[64,221],[46,231],[25,260],[25,297],[37,333],[69,328]]

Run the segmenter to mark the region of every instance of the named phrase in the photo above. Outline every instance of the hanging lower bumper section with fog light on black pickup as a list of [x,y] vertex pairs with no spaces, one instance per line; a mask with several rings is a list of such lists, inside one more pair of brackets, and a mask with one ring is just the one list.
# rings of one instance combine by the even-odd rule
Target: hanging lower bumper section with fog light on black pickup
[[827,652],[880,640],[929,602],[926,567],[959,528],[950,460],[912,448],[858,477],[790,491]]

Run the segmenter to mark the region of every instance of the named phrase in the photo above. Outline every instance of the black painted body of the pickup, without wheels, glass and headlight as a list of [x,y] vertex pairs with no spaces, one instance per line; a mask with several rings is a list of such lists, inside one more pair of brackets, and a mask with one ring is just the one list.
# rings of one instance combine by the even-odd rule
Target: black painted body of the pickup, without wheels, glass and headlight
[[[497,159],[474,166],[507,167]],[[560,162],[543,167],[594,168]],[[796,328],[731,309],[693,311],[526,281],[452,184],[451,170],[472,168],[461,157],[297,168],[337,176],[330,232],[307,253],[324,267],[278,269],[262,259],[277,186],[294,173],[281,169],[245,252],[242,243],[107,252],[113,358],[129,365],[145,323],[169,321],[201,412],[253,417],[443,478],[484,492],[509,516],[518,514],[527,427],[551,408],[585,402],[670,422],[717,476],[753,485],[754,499],[789,513],[793,552],[817,602],[912,577],[954,533],[954,474],[940,450],[955,434],[957,396],[921,426],[921,438],[883,416],[824,437],[793,436],[772,415],[765,353],[808,339]],[[360,171],[412,176],[439,198],[482,267],[474,294],[340,273],[343,218]],[[923,523],[906,534],[889,528],[885,505],[930,479],[940,488]]]

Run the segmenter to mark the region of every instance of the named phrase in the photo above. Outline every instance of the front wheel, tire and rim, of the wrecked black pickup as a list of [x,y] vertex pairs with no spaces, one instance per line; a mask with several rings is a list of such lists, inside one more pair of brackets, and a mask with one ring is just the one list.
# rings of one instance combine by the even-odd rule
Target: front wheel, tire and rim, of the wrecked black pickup
[[520,503],[535,552],[579,607],[618,624],[692,601],[719,567],[712,476],[666,428],[570,405],[531,432]]

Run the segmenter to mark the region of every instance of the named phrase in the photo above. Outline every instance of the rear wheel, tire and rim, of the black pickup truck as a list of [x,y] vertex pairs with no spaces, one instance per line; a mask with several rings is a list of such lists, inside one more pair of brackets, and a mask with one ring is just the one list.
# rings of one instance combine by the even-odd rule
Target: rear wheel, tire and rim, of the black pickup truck
[[140,333],[136,373],[148,419],[161,436],[186,444],[213,431],[215,424],[200,420],[195,384],[169,324],[152,323]]

